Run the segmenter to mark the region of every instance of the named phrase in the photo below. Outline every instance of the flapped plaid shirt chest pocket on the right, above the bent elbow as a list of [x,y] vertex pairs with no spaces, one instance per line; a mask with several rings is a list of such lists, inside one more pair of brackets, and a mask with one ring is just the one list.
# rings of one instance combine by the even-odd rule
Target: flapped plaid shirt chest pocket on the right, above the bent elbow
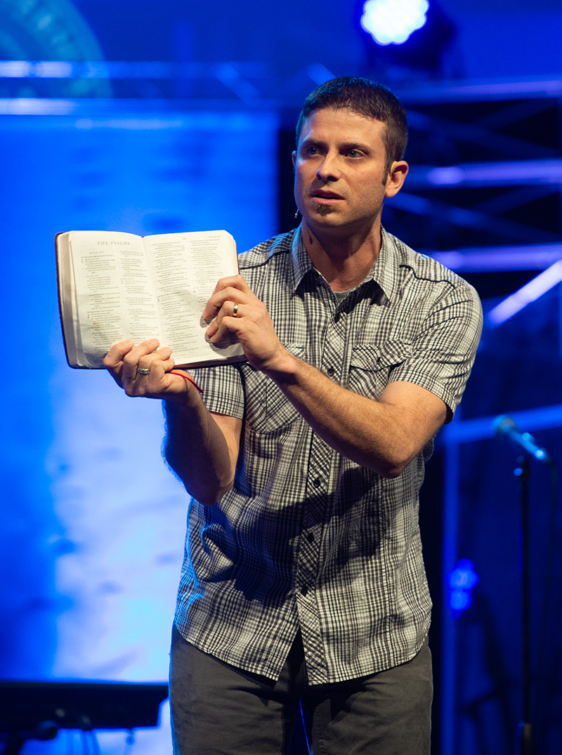
[[380,399],[391,371],[412,356],[407,341],[386,341],[380,346],[357,344],[351,353],[348,387],[360,396]]

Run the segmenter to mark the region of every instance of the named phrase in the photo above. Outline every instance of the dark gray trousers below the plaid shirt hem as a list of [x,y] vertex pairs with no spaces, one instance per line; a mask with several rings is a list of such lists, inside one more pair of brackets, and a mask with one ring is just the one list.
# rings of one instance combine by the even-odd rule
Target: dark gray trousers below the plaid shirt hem
[[427,640],[400,666],[310,686],[300,635],[273,682],[172,634],[174,755],[286,755],[301,713],[314,755],[429,755],[432,695]]

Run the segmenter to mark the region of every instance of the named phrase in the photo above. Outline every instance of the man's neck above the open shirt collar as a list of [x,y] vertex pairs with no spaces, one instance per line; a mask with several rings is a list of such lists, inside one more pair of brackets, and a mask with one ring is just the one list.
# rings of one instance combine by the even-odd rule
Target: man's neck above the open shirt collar
[[316,233],[303,220],[301,233],[314,267],[333,291],[348,291],[359,285],[381,251],[380,223],[367,235],[339,236],[337,233]]

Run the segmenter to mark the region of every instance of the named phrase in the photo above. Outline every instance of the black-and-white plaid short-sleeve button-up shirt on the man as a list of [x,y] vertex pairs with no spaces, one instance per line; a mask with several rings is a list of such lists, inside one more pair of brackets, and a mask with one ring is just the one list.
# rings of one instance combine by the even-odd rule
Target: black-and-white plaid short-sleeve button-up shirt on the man
[[[338,301],[298,231],[239,257],[280,341],[354,393],[391,381],[459,403],[481,328],[477,294],[383,231],[369,276]],[[203,651],[276,679],[300,628],[310,683],[408,661],[431,599],[418,530],[428,444],[383,479],[320,439],[249,364],[193,371],[211,411],[243,419],[233,488],[190,502],[176,626]]]

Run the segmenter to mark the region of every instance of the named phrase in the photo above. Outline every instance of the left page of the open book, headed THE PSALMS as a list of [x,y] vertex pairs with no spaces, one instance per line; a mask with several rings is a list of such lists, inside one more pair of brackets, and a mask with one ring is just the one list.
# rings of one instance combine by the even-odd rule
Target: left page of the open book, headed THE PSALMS
[[159,337],[143,240],[131,233],[70,232],[76,318],[86,366],[100,366],[117,341]]

